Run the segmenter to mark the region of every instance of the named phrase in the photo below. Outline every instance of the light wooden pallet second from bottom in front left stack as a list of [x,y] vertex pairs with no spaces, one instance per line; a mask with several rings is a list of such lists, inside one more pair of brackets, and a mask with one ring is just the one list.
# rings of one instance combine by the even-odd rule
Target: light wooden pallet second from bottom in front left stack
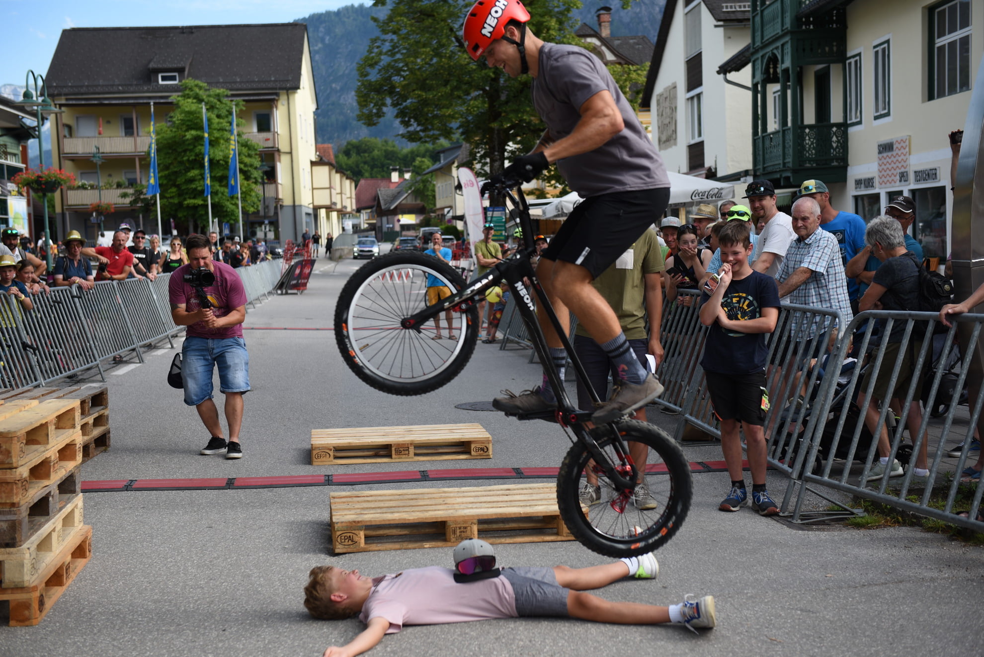
[[0,588],[31,586],[83,526],[83,496],[77,495],[16,548],[0,549]]

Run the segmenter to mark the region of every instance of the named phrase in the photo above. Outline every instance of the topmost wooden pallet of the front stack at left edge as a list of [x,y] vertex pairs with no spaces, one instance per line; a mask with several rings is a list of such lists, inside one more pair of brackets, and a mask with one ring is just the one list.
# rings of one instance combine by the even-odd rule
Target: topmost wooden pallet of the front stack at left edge
[[[4,408],[12,404],[8,401]],[[79,406],[78,399],[47,399],[0,420],[0,468],[30,463],[79,431]]]

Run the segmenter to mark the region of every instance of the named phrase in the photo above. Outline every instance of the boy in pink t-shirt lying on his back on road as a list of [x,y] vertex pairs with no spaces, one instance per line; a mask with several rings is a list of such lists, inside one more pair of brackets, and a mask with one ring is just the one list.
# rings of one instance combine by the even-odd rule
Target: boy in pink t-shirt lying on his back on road
[[[461,569],[461,568],[459,568]],[[676,623],[714,627],[714,599],[707,595],[670,607],[609,602],[583,593],[633,575],[651,579],[659,572],[652,554],[586,568],[507,567],[497,576],[459,583],[446,567],[403,570],[366,577],[358,570],[319,566],[304,587],[304,606],[316,619],[358,615],[368,627],[348,644],[332,646],[325,657],[350,657],[374,647],[384,634],[403,626],[438,625],[518,617],[570,617],[597,623],[654,625]],[[696,631],[696,630],[694,630]]]

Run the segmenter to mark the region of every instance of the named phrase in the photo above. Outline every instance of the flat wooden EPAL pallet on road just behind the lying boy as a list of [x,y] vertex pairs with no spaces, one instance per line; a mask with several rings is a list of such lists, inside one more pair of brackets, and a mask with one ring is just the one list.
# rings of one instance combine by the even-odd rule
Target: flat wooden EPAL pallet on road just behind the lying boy
[[570,541],[556,484],[332,493],[337,554],[489,543]]

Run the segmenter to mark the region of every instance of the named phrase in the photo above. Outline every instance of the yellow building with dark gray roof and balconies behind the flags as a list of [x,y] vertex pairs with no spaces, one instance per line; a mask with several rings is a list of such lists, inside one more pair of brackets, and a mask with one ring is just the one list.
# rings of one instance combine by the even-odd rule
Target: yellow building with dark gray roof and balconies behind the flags
[[[89,206],[99,191],[116,206],[108,222],[126,220],[152,232],[156,216],[139,215],[121,194],[147,183],[151,102],[157,124],[167,121],[169,98],[189,78],[244,103],[238,119],[245,138],[260,147],[265,181],[261,208],[243,217],[247,236],[296,240],[314,230],[318,101],[307,29],[290,23],[63,30],[46,77],[49,95],[65,110],[52,129],[52,150],[57,165],[83,185],[57,198],[61,234],[74,229],[93,236]],[[98,172],[96,148],[103,160]],[[158,168],[167,166],[158,158]],[[169,219],[193,227],[166,207],[161,214],[165,233]],[[235,226],[235,217],[217,218],[220,226]]]

